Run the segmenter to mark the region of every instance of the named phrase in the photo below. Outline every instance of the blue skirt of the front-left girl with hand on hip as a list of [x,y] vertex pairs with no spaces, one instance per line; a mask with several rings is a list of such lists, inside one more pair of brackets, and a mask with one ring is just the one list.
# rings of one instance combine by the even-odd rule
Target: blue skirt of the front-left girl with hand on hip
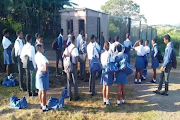
[[36,73],[36,88],[39,90],[49,90],[49,71]]

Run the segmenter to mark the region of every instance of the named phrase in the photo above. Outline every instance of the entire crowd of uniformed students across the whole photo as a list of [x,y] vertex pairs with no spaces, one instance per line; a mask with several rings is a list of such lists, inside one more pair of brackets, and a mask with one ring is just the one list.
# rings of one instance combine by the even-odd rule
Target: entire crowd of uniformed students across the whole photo
[[[41,104],[41,108],[43,111],[48,111],[46,106],[46,92],[49,89],[49,71],[48,71],[48,60],[44,56],[44,44],[43,37],[40,34],[36,34],[36,42],[35,47],[32,45],[32,37],[27,34],[25,37],[25,41],[23,43],[23,32],[17,31],[17,39],[15,41],[15,56],[17,57],[17,64],[19,70],[19,85],[22,91],[26,91],[23,86],[23,68],[26,70],[26,87],[29,96],[36,96],[36,89],[39,90],[38,96]],[[2,45],[4,48],[4,64],[7,65],[7,75],[8,79],[11,79],[11,51],[13,49],[13,44],[8,39],[9,31],[7,29],[3,30],[3,40]],[[64,70],[63,66],[63,58],[70,54],[71,62],[72,62],[72,72],[66,73],[67,75],[67,89],[69,100],[72,100],[72,92],[71,86],[74,86],[74,97],[75,100],[79,100],[78,95],[78,85],[77,85],[77,68],[78,62],[80,62],[80,75],[82,79],[86,82],[86,58],[89,60],[89,63],[93,58],[100,59],[102,66],[107,65],[108,62],[119,62],[121,60],[125,60],[130,64],[131,51],[135,50],[137,52],[136,62],[135,62],[135,80],[134,82],[141,83],[141,80],[145,76],[142,75],[142,71],[146,69],[148,63],[145,62],[145,57],[148,59],[148,54],[150,53],[150,48],[148,47],[149,41],[146,40],[145,46],[143,46],[143,40],[138,40],[135,42],[134,46],[132,46],[132,42],[130,41],[130,34],[126,34],[126,40],[124,41],[124,45],[119,42],[119,37],[115,36],[114,40],[111,37],[108,38],[107,41],[104,42],[104,47],[101,48],[99,45],[98,38],[95,35],[90,36],[90,42],[88,45],[86,42],[86,36],[83,34],[83,31],[79,31],[79,35],[77,39],[72,34],[72,31],[68,35],[68,39],[63,44],[63,29],[61,29],[60,34],[57,38],[57,50],[56,50],[56,72],[57,75],[60,75],[58,63],[59,59],[62,60],[62,70]],[[170,36],[166,35],[164,37],[164,42],[167,44],[164,56],[164,63],[161,67],[161,80],[159,84],[158,90],[154,91],[159,94],[162,89],[163,79],[165,78],[165,92],[163,95],[168,95],[168,81],[169,81],[169,73],[172,68],[172,51],[173,51],[173,43],[170,41]],[[153,45],[151,51],[151,59],[152,59],[152,69],[154,71],[153,79],[151,82],[156,82],[156,69],[159,67],[159,62],[157,59],[158,47],[156,44],[156,39],[152,39],[151,43]],[[138,46],[136,46],[138,44]],[[63,47],[64,46],[64,47]],[[102,50],[101,50],[102,49]],[[115,57],[114,54],[116,54]],[[28,57],[28,62],[27,62]],[[27,65],[24,65],[27,64]],[[28,66],[28,67],[24,67]],[[90,65],[89,65],[90,66]],[[92,96],[95,96],[97,93],[95,91],[95,80],[98,74],[97,71],[90,72],[89,77],[89,92],[91,92]],[[139,81],[138,81],[138,73],[139,73]],[[36,75],[35,75],[36,74]],[[62,71],[64,74],[64,71]],[[109,93],[110,86],[114,83],[117,84],[117,104],[125,103],[125,84],[128,83],[128,75],[123,71],[118,71],[116,73],[107,73],[102,70],[101,74],[101,84],[103,84],[103,103],[105,105],[110,105],[109,102]]]

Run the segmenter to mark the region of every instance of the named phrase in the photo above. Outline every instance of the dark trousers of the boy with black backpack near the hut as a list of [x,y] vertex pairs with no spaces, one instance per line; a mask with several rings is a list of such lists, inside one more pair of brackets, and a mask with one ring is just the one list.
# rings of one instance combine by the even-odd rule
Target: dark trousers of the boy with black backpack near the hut
[[62,70],[64,70],[62,52],[60,50],[56,50],[56,73],[59,72],[59,68],[58,68],[59,60],[61,60]]

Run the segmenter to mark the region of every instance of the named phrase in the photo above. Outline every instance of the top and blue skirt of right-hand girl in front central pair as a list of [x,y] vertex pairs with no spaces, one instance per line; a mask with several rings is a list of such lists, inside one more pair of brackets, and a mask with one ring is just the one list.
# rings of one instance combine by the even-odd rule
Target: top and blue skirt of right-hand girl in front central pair
[[[118,55],[115,58],[115,62],[119,62],[121,60],[125,59],[125,61],[128,61],[128,56],[125,53],[118,53]],[[116,72],[116,84],[127,84],[128,83],[128,76],[125,72],[123,71],[118,71]]]

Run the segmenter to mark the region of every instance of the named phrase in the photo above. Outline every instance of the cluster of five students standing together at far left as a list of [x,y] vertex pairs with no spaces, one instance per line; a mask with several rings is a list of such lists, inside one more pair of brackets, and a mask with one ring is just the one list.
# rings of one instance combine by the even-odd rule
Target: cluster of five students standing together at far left
[[[4,48],[4,64],[6,65],[8,79],[12,76],[12,50],[15,50],[15,59],[19,71],[19,87],[22,91],[27,91],[29,96],[39,96],[41,108],[47,111],[46,107],[46,91],[49,89],[49,72],[48,60],[44,54],[43,37],[36,34],[35,47],[32,45],[32,37],[27,34],[25,40],[23,32],[16,32],[17,39],[14,45],[9,40],[9,31],[3,30],[2,45]],[[23,80],[23,68],[26,71],[26,85]],[[39,90],[37,94],[36,90]]]

